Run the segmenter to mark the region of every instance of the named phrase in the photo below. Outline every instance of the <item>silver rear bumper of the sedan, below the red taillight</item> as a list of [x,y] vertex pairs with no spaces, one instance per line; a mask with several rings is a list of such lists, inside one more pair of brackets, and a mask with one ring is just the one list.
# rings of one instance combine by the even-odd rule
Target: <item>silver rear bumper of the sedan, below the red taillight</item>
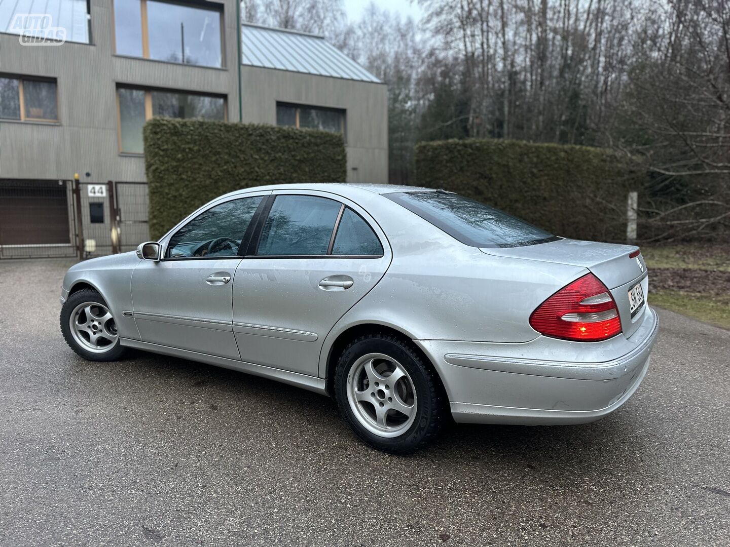
[[[544,337],[507,349],[478,342],[415,342],[437,366],[456,422],[580,424],[615,411],[638,389],[658,333],[656,313],[647,309],[644,316],[630,338],[594,343],[600,345],[585,352],[608,357],[599,362],[554,360],[559,345]],[[549,360],[535,358],[541,344]],[[575,344],[588,343],[564,344],[566,354],[575,351]],[[496,355],[496,349],[509,354]],[[621,354],[612,357],[617,351]]]

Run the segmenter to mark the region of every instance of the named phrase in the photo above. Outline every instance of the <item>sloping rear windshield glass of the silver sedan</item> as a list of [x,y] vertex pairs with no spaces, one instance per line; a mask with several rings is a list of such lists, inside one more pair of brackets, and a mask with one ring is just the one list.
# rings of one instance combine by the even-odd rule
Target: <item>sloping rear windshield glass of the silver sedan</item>
[[558,239],[511,214],[443,190],[384,195],[472,247],[523,247]]

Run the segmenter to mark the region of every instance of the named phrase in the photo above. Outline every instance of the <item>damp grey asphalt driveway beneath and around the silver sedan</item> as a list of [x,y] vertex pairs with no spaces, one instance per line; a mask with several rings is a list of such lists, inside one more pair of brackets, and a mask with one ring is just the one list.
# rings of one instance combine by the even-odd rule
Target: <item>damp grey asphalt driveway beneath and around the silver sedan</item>
[[320,395],[82,360],[58,328],[69,264],[0,261],[0,545],[730,545],[729,331],[661,311],[606,419],[459,425],[395,457]]

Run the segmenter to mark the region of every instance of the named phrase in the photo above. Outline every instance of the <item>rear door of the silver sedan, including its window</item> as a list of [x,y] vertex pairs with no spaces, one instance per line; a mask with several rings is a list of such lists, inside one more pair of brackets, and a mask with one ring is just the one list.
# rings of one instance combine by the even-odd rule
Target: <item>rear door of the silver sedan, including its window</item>
[[390,247],[364,210],[324,192],[274,192],[258,232],[234,278],[241,358],[317,376],[327,333],[383,277]]

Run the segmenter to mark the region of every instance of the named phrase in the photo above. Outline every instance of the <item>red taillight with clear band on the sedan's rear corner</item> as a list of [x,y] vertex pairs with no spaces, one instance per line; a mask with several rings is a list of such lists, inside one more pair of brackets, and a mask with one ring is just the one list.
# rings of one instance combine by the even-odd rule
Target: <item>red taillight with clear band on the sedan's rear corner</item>
[[616,303],[593,274],[576,279],[540,304],[530,316],[530,326],[546,336],[586,342],[621,333]]

